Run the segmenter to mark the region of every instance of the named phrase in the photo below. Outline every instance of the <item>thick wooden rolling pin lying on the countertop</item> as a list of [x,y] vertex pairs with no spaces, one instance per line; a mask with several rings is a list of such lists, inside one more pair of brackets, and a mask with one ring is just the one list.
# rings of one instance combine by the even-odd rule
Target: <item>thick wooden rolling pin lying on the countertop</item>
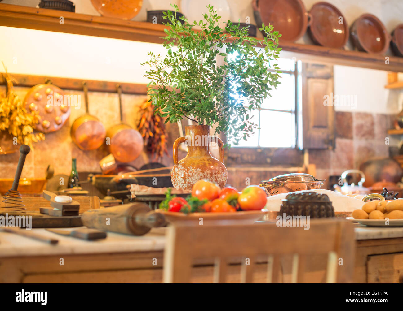
[[148,205],[135,202],[87,210],[81,215],[84,226],[103,231],[144,235],[152,227],[165,224],[164,215],[151,210]]

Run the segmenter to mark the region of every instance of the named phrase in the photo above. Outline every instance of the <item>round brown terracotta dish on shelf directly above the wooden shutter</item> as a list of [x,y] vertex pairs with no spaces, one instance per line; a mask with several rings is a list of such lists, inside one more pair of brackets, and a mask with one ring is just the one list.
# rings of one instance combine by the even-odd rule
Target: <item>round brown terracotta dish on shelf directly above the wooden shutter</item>
[[347,43],[349,27],[343,14],[335,6],[318,2],[309,13],[309,34],[316,44],[340,49]]

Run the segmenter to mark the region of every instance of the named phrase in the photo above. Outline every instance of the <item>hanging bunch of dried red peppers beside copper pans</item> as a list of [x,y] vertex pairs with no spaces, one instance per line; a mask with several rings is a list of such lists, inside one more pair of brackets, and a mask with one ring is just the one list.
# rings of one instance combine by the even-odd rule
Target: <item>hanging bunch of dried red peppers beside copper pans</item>
[[168,154],[166,145],[168,135],[162,117],[154,115],[154,105],[145,101],[140,107],[141,119],[139,122],[139,132],[144,139],[144,146],[154,159],[160,159]]

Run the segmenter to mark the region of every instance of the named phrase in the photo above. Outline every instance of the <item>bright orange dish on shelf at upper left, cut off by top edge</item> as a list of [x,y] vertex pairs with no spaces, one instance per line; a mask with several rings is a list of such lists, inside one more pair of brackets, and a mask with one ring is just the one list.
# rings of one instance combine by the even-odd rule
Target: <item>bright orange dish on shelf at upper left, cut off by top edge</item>
[[91,0],[102,16],[115,19],[132,19],[141,10],[143,0]]

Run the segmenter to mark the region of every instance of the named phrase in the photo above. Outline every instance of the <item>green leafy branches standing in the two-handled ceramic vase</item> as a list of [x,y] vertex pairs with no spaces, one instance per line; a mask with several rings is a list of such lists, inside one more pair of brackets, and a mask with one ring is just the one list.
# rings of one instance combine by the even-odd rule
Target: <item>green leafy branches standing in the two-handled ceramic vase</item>
[[[172,6],[177,12],[178,6]],[[150,60],[142,64],[149,68],[145,76],[151,80],[150,101],[155,102],[154,113],[167,117],[166,122],[187,118],[216,125],[215,134],[224,132],[238,144],[257,128],[251,109],[260,109],[280,83],[276,59],[281,35],[263,24],[263,39],[249,37],[247,28],[220,21],[210,5],[208,10],[200,14],[202,20],[190,23],[174,12],[164,13],[168,53],[162,58],[149,52]],[[220,25],[227,22],[224,33]],[[220,56],[222,64],[217,62]]]

